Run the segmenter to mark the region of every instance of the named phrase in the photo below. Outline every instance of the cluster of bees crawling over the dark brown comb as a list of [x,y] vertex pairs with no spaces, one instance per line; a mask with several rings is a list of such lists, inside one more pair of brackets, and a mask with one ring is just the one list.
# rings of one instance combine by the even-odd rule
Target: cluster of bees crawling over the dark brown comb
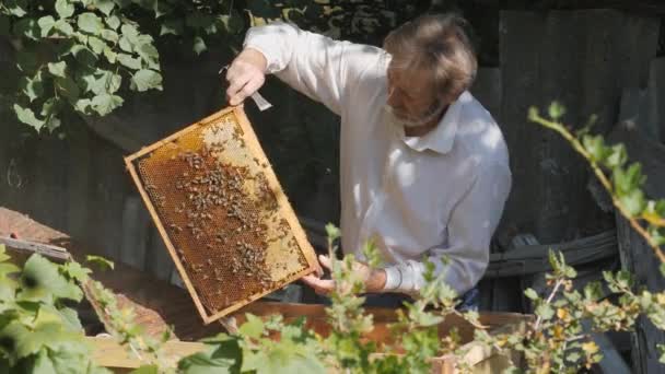
[[[194,276],[194,285],[215,290],[210,295],[224,295],[225,304],[243,297],[234,297],[232,293],[247,295],[271,288],[266,266],[268,226],[262,223],[261,212],[276,218],[278,202],[262,173],[252,175],[248,167],[222,164],[210,151],[183,151],[172,156],[171,162],[185,164],[172,182],[182,197],[172,208],[186,220],[172,221],[186,224],[171,223],[168,229],[180,238],[188,234],[207,249],[208,258],[201,264],[190,264],[186,258],[191,256],[177,249],[180,261]],[[247,198],[247,180],[254,182],[256,199]],[[159,197],[156,200],[161,201]],[[279,234],[287,231],[280,230]],[[219,305],[219,300],[209,302],[226,306]]]

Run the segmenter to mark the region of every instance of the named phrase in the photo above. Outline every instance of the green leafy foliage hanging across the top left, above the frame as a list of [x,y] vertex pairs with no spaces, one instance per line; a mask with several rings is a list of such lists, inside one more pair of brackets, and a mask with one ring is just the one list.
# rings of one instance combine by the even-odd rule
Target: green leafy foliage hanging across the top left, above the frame
[[106,116],[132,93],[163,90],[160,49],[184,44],[201,55],[223,39],[237,51],[250,25],[280,19],[338,37],[378,35],[416,14],[409,1],[392,7],[348,0],[12,0],[0,3],[0,38],[15,49],[16,118],[52,131],[67,112]]

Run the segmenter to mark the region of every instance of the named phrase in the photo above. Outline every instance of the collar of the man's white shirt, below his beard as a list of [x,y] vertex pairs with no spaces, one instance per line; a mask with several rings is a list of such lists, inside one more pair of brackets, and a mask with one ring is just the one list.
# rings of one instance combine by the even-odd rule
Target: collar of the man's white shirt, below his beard
[[453,149],[455,133],[457,132],[457,122],[459,112],[465,103],[470,101],[471,96],[468,92],[464,92],[459,97],[451,104],[445,115],[439,121],[439,125],[430,132],[422,137],[407,137],[404,133],[404,128],[398,130],[398,136],[412,150],[422,152],[432,150],[436,153],[445,154]]

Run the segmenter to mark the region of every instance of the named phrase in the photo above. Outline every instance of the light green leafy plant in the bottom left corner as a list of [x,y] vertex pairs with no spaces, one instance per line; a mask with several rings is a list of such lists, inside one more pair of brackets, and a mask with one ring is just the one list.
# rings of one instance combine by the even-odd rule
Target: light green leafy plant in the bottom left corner
[[91,361],[77,313],[77,280],[86,271],[33,255],[23,270],[0,245],[0,371],[22,373],[109,373]]

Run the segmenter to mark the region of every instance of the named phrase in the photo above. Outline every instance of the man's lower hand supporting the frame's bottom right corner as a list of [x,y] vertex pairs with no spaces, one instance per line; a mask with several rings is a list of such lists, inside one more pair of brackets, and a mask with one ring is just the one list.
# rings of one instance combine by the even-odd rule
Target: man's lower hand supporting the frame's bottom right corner
[[[320,265],[331,270],[332,265],[328,256],[319,255]],[[366,264],[355,261],[352,265],[353,273],[365,283],[365,292],[380,292],[386,284],[386,272],[383,269],[371,269]],[[314,289],[319,295],[327,295],[335,289],[335,280],[322,279],[323,270],[302,278],[303,282]]]

